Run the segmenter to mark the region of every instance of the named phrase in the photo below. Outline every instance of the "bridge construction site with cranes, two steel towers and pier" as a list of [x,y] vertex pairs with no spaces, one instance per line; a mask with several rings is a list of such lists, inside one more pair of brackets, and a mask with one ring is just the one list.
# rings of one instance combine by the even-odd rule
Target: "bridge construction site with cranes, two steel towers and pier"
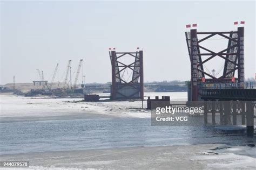
[[[244,24],[241,21],[237,30],[218,32],[202,32],[197,30],[197,24],[186,25],[185,41],[191,79],[181,86],[175,85],[176,91],[187,91],[186,103],[176,104],[190,107],[195,104],[204,105],[205,124],[208,123],[208,113],[212,115],[212,124],[216,123],[217,113],[219,123],[224,125],[237,125],[237,117],[241,117],[242,125],[247,125],[247,132],[253,133],[256,89],[255,82],[245,80]],[[238,22],[234,22],[234,25],[238,25]],[[225,40],[226,44],[222,44],[220,49],[214,49],[215,45],[209,43],[210,40]],[[144,60],[142,49],[137,47],[133,52],[119,52],[116,48],[109,48],[109,58],[111,82],[107,84],[86,84],[83,59],[79,60],[75,69],[71,67],[69,60],[63,76],[57,81],[59,63],[53,70],[50,82],[45,79],[43,70],[36,69],[38,80],[32,81],[32,89],[23,95],[83,98],[85,102],[142,101],[142,108],[143,101],[147,100],[147,109],[173,105],[172,96],[164,94],[161,98],[151,98],[144,94],[144,90],[150,87],[166,93],[170,86],[145,86],[143,62],[146,57]],[[211,63],[212,60],[215,63]],[[79,77],[81,82],[78,82]],[[15,89],[14,77],[13,90]]]

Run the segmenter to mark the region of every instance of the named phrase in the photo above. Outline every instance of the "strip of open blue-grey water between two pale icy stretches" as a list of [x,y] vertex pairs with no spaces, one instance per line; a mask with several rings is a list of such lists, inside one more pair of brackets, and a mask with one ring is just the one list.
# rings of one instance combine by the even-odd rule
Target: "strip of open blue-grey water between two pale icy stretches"
[[[203,118],[203,117],[202,117]],[[150,118],[0,123],[1,154],[135,146],[255,144],[255,137],[212,126],[151,126]]]

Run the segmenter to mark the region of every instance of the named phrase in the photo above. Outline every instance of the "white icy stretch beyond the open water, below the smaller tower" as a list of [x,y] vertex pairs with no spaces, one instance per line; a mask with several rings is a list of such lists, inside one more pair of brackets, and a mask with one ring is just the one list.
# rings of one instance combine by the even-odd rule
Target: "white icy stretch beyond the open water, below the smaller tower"
[[[146,101],[144,101],[144,106]],[[150,117],[142,102],[83,102],[77,98],[40,98],[0,95],[0,122],[49,119]]]

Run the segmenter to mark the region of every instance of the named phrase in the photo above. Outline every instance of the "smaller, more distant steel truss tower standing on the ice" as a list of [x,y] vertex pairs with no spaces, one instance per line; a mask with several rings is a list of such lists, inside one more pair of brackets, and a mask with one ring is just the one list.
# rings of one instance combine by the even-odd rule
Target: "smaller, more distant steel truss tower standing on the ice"
[[[138,48],[137,48],[138,49]],[[129,100],[144,98],[143,80],[143,51],[136,52],[116,52],[115,49],[109,51],[112,66],[111,100]],[[120,62],[120,58],[133,57],[131,63]],[[132,70],[130,81],[124,80],[122,73],[125,69]]]

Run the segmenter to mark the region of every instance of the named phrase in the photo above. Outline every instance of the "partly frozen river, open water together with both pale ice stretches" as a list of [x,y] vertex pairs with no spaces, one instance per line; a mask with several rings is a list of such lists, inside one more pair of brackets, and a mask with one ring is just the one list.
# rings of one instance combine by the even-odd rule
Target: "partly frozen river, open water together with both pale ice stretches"
[[2,95],[0,161],[29,161],[30,169],[256,167],[254,137],[207,126],[151,126],[151,112],[141,107],[141,101]]

